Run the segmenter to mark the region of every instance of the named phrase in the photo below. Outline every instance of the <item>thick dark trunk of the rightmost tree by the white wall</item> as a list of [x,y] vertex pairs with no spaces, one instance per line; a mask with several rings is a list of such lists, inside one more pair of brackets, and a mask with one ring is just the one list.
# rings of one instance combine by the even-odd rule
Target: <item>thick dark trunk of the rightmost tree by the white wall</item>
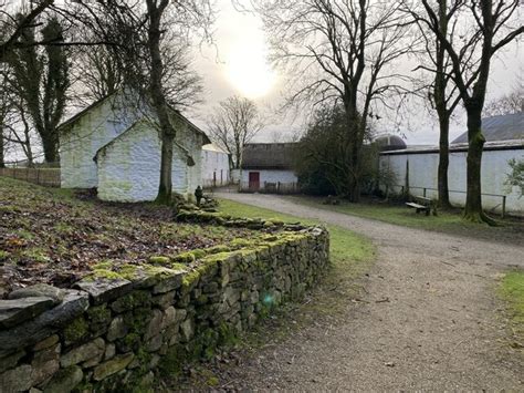
[[464,218],[470,221],[490,225],[494,221],[482,210],[482,186],[481,186],[481,163],[484,146],[484,135],[482,135],[482,106],[470,104],[468,112],[468,194],[465,197]]

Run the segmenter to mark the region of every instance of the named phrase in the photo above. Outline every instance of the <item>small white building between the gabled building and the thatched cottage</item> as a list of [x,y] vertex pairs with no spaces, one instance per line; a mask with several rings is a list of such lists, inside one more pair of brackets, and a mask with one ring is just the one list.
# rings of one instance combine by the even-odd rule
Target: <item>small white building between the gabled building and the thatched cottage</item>
[[229,154],[213,144],[202,146],[202,187],[220,187],[230,182]]

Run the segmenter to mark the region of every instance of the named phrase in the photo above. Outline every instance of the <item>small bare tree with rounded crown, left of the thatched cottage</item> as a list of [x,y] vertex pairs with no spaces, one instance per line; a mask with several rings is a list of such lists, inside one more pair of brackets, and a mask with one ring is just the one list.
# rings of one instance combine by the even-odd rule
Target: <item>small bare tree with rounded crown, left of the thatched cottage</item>
[[264,122],[254,102],[237,95],[222,101],[209,118],[211,137],[229,153],[231,169],[241,168],[244,145],[263,126]]

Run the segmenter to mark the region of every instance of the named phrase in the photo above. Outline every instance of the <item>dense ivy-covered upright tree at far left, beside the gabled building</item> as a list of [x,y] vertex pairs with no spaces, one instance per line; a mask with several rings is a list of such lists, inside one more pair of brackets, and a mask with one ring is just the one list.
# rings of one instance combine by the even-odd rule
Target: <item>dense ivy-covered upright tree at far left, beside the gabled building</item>
[[[59,134],[66,93],[70,86],[69,62],[65,49],[60,45],[36,46],[35,29],[24,29],[19,43],[23,48],[12,51],[10,84],[21,97],[25,112],[40,135],[46,163],[59,162]],[[42,40],[60,41],[63,30],[56,18],[46,21],[41,30]]]

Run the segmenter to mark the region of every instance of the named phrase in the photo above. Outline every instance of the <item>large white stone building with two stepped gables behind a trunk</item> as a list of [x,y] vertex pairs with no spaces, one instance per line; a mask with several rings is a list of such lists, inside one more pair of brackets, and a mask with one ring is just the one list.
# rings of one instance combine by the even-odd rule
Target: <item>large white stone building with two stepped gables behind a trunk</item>
[[[96,187],[103,200],[155,199],[160,177],[158,124],[147,106],[129,105],[122,93],[105,97],[60,126],[61,185]],[[210,141],[178,111],[174,143],[174,192],[192,195],[201,183],[201,146]]]

